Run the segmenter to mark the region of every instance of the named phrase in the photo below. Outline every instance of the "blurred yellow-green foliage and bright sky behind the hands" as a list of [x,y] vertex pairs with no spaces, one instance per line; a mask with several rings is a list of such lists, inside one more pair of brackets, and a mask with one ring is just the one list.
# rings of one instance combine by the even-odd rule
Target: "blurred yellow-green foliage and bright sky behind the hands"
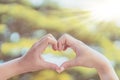
[[[120,78],[119,0],[0,0],[0,63],[24,55],[47,33],[68,33],[105,55]],[[43,57],[58,65],[75,57],[46,49]],[[62,54],[61,54],[62,53]],[[21,66],[22,67],[22,66]],[[75,67],[58,74],[42,70],[10,80],[99,80],[95,69]]]

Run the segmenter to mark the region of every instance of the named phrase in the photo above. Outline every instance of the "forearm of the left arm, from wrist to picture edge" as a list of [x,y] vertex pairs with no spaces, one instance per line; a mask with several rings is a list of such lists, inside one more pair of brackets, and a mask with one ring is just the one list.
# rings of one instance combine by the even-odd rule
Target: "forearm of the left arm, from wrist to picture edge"
[[15,75],[25,73],[26,71],[19,61],[20,58],[17,58],[0,65],[0,80],[7,80]]

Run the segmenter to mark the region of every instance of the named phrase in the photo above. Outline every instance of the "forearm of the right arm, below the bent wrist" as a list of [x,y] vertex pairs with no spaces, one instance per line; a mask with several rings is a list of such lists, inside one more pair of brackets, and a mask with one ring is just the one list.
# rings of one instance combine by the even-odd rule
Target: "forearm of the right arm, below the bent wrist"
[[94,55],[94,67],[97,69],[101,80],[119,80],[109,60],[101,53],[92,50]]

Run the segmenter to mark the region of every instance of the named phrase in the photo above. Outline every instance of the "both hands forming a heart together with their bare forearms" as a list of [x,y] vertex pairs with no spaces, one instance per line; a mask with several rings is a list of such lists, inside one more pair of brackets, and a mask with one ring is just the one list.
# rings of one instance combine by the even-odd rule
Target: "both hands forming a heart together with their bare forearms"
[[[75,51],[76,58],[63,63],[60,68],[53,63],[46,62],[41,54],[48,45],[59,51],[70,47]],[[68,34],[64,34],[58,41],[48,34],[36,42],[22,57],[1,64],[0,80],[7,80],[15,75],[43,69],[53,69],[60,73],[74,66],[95,68],[101,80],[119,80],[106,57]]]

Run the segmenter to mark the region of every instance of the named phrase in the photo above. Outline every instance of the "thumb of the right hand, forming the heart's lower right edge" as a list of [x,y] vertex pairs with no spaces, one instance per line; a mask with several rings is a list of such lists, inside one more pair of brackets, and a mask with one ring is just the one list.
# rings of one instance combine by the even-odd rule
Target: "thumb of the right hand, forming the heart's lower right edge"
[[57,69],[57,72],[58,73],[61,73],[63,72],[64,70],[68,69],[68,68],[71,68],[71,67],[74,67],[76,66],[76,63],[75,63],[75,59],[73,60],[70,60],[70,61],[66,61],[64,62],[59,69]]

